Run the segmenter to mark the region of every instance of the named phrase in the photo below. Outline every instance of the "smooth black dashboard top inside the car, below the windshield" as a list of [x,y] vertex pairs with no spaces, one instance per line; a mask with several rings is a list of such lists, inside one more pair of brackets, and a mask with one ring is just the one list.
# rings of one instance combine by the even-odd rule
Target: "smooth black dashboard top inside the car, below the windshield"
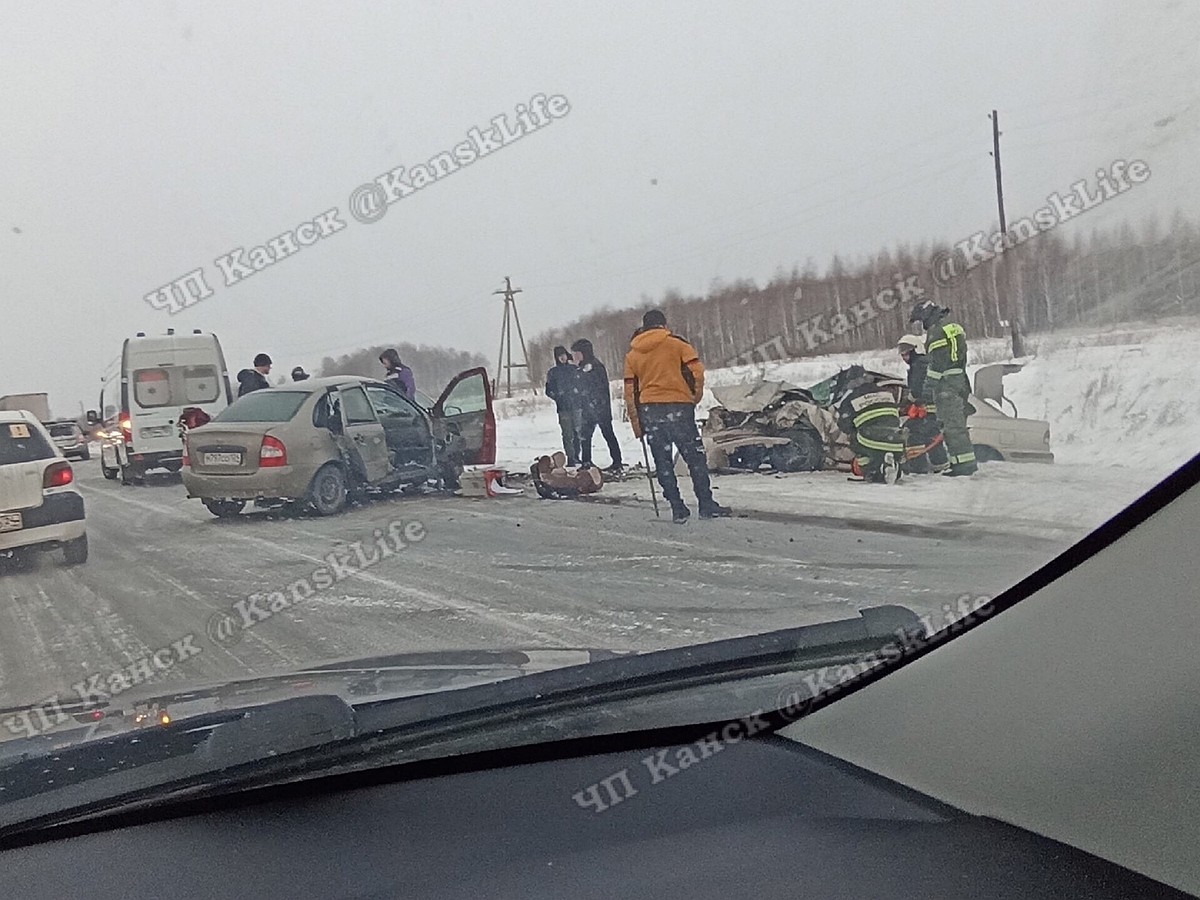
[[[630,736],[630,740],[635,736]],[[0,853],[6,895],[1176,898],[772,734],[263,788]],[[532,757],[530,757],[532,758]],[[404,767],[391,769],[397,779]]]

